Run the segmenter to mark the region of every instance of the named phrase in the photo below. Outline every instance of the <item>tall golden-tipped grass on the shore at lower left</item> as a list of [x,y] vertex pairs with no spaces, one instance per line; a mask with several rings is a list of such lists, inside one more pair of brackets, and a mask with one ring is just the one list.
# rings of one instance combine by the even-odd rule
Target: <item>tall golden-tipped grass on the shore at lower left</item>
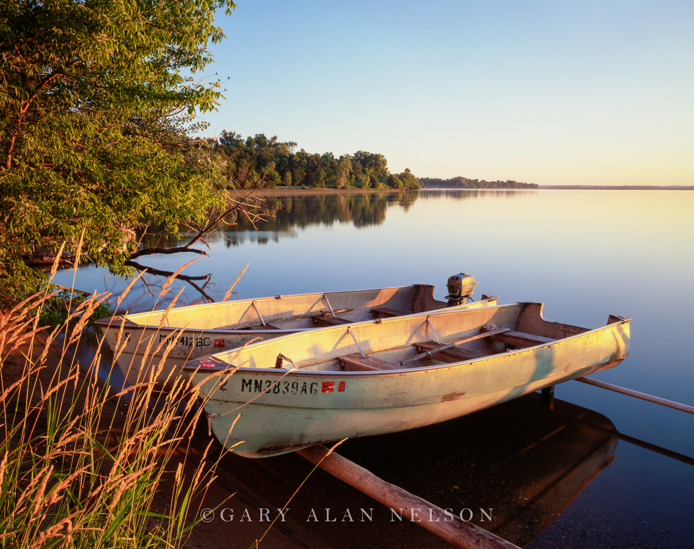
[[210,446],[195,464],[174,455],[202,413],[196,389],[154,395],[155,374],[117,393],[98,383],[101,353],[79,364],[74,349],[107,296],[38,328],[50,296],[0,312],[0,547],[182,546],[217,465]]

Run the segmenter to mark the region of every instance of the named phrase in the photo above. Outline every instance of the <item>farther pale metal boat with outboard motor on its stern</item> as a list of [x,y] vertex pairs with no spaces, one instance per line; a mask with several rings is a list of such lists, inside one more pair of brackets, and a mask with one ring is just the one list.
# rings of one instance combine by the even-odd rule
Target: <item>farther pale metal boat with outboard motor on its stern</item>
[[156,387],[169,389],[176,366],[249,341],[442,307],[496,304],[496,297],[485,295],[471,301],[475,285],[473,276],[459,273],[448,279],[448,301],[434,299],[434,286],[416,284],[173,307],[113,316],[94,325],[101,328],[131,385],[148,381],[154,373]]

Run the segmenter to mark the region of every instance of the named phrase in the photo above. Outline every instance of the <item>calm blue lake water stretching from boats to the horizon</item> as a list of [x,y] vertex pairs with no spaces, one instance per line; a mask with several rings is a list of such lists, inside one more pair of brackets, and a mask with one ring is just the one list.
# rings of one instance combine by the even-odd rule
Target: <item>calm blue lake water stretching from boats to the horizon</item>
[[[210,257],[185,270],[189,276],[211,273],[209,280],[196,281],[201,287],[207,282],[203,292],[211,298],[221,298],[246,264],[235,287],[237,298],[427,282],[437,285],[435,296],[441,299],[448,276],[464,271],[480,282],[475,298],[484,293],[499,296],[500,303],[541,301],[551,321],[595,328],[608,314],[631,316],[631,355],[593,377],[694,405],[694,192],[423,191],[269,200],[284,204],[276,218],[257,230],[238,226],[217,235]],[[195,257],[140,259],[174,271]],[[56,282],[70,285],[72,276],[73,271],[59,273]],[[121,308],[137,312],[153,306],[150,292],[157,294],[164,278],[144,278],[147,284],[133,287]],[[117,294],[127,282],[87,266],[78,269],[75,287]],[[179,303],[204,301],[185,282],[176,282],[169,295],[183,286]],[[557,386],[556,396],[606,416],[623,434],[694,457],[691,414],[579,382]],[[512,416],[518,421],[517,411]],[[527,421],[534,420],[528,416]],[[474,430],[474,422],[466,425]],[[419,436],[427,434],[412,434]],[[382,439],[348,441],[341,453],[358,456],[359,464],[402,484],[398,471],[389,478],[388,469],[380,471],[378,459],[370,461],[364,450]],[[504,441],[497,442],[503,451]],[[428,459],[431,451],[415,461]],[[561,514],[523,543],[532,548],[694,546],[694,466],[627,441],[616,444],[614,457],[597,476],[584,477],[586,485],[567,498]],[[475,459],[484,467],[484,455]],[[427,488],[441,479],[421,471],[413,473],[415,478],[420,484],[408,488],[441,505],[437,492]],[[475,478],[451,482],[475,484]],[[486,506],[509,505],[499,497]]]

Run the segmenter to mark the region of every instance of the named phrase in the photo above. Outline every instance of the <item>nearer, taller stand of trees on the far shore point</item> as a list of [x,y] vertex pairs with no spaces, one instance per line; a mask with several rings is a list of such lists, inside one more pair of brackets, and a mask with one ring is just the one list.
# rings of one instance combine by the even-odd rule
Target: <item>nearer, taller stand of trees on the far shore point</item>
[[412,171],[391,174],[382,154],[357,151],[335,158],[333,153],[294,152],[295,142],[280,142],[277,136],[257,133],[246,139],[236,132],[223,132],[212,155],[226,180],[242,189],[314,187],[322,189],[419,189]]

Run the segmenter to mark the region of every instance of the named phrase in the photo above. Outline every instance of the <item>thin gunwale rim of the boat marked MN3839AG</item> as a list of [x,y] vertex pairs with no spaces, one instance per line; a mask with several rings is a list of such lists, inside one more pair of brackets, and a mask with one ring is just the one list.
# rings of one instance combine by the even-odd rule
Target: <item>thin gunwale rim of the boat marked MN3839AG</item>
[[[537,303],[534,301],[525,301],[522,303]],[[516,304],[511,304],[510,306],[513,306]],[[499,305],[499,307],[507,307],[509,305]],[[417,313],[421,314],[421,313]],[[613,316],[618,316],[618,315],[613,315]],[[403,317],[397,317],[397,318],[403,318]],[[257,375],[278,375],[278,376],[284,376],[284,375],[298,375],[301,378],[311,378],[311,377],[330,377],[330,378],[335,378],[335,377],[341,377],[341,376],[347,376],[348,378],[354,378],[354,377],[362,377],[362,378],[373,378],[374,375],[393,375],[393,374],[398,374],[398,375],[414,375],[416,373],[423,373],[423,372],[429,372],[429,371],[434,371],[434,370],[444,370],[444,369],[451,369],[451,368],[456,368],[459,366],[467,366],[468,364],[475,363],[475,364],[483,364],[484,362],[488,362],[489,360],[496,360],[500,356],[514,356],[522,353],[535,353],[538,350],[541,350],[542,348],[550,348],[552,346],[557,346],[557,344],[563,344],[566,343],[567,340],[570,339],[578,339],[582,336],[589,335],[595,332],[600,332],[607,330],[609,328],[613,328],[614,326],[622,326],[625,324],[629,324],[632,319],[628,317],[622,317],[618,316],[618,318],[622,319],[620,321],[616,321],[613,323],[605,324],[604,326],[598,326],[598,328],[593,328],[591,330],[588,330],[586,332],[581,332],[579,334],[573,334],[569,335],[567,337],[563,337],[561,339],[555,339],[554,341],[550,341],[548,343],[541,343],[537,344],[531,347],[524,347],[522,349],[515,349],[515,350],[507,350],[502,353],[496,353],[494,355],[488,355],[485,357],[479,357],[479,358],[473,358],[470,360],[462,360],[460,362],[452,362],[452,363],[447,363],[447,364],[433,364],[432,366],[418,366],[416,368],[403,368],[403,369],[388,369],[388,370],[370,370],[370,371],[332,371],[332,370],[303,370],[303,369],[278,369],[278,368],[253,368],[251,366],[234,366],[232,364],[228,364],[227,366],[186,366],[185,364],[183,366],[179,366],[180,369],[186,372],[190,373],[219,373],[223,372],[226,370],[234,370],[234,373],[240,372],[240,373],[255,373]],[[390,320],[390,319],[388,319]],[[368,321],[370,323],[377,323],[378,321]],[[335,329],[335,327],[330,327],[330,328],[318,328],[318,330],[326,330],[326,329]],[[316,330],[317,331],[317,330]],[[264,343],[269,343],[272,340],[267,340],[267,341],[260,341],[258,344],[264,344]],[[276,343],[276,341],[274,341]],[[250,347],[250,346],[248,346]],[[234,350],[234,349],[231,349]],[[228,351],[228,352],[231,352]],[[221,354],[221,353],[219,353]],[[214,355],[212,355],[214,356]]]

